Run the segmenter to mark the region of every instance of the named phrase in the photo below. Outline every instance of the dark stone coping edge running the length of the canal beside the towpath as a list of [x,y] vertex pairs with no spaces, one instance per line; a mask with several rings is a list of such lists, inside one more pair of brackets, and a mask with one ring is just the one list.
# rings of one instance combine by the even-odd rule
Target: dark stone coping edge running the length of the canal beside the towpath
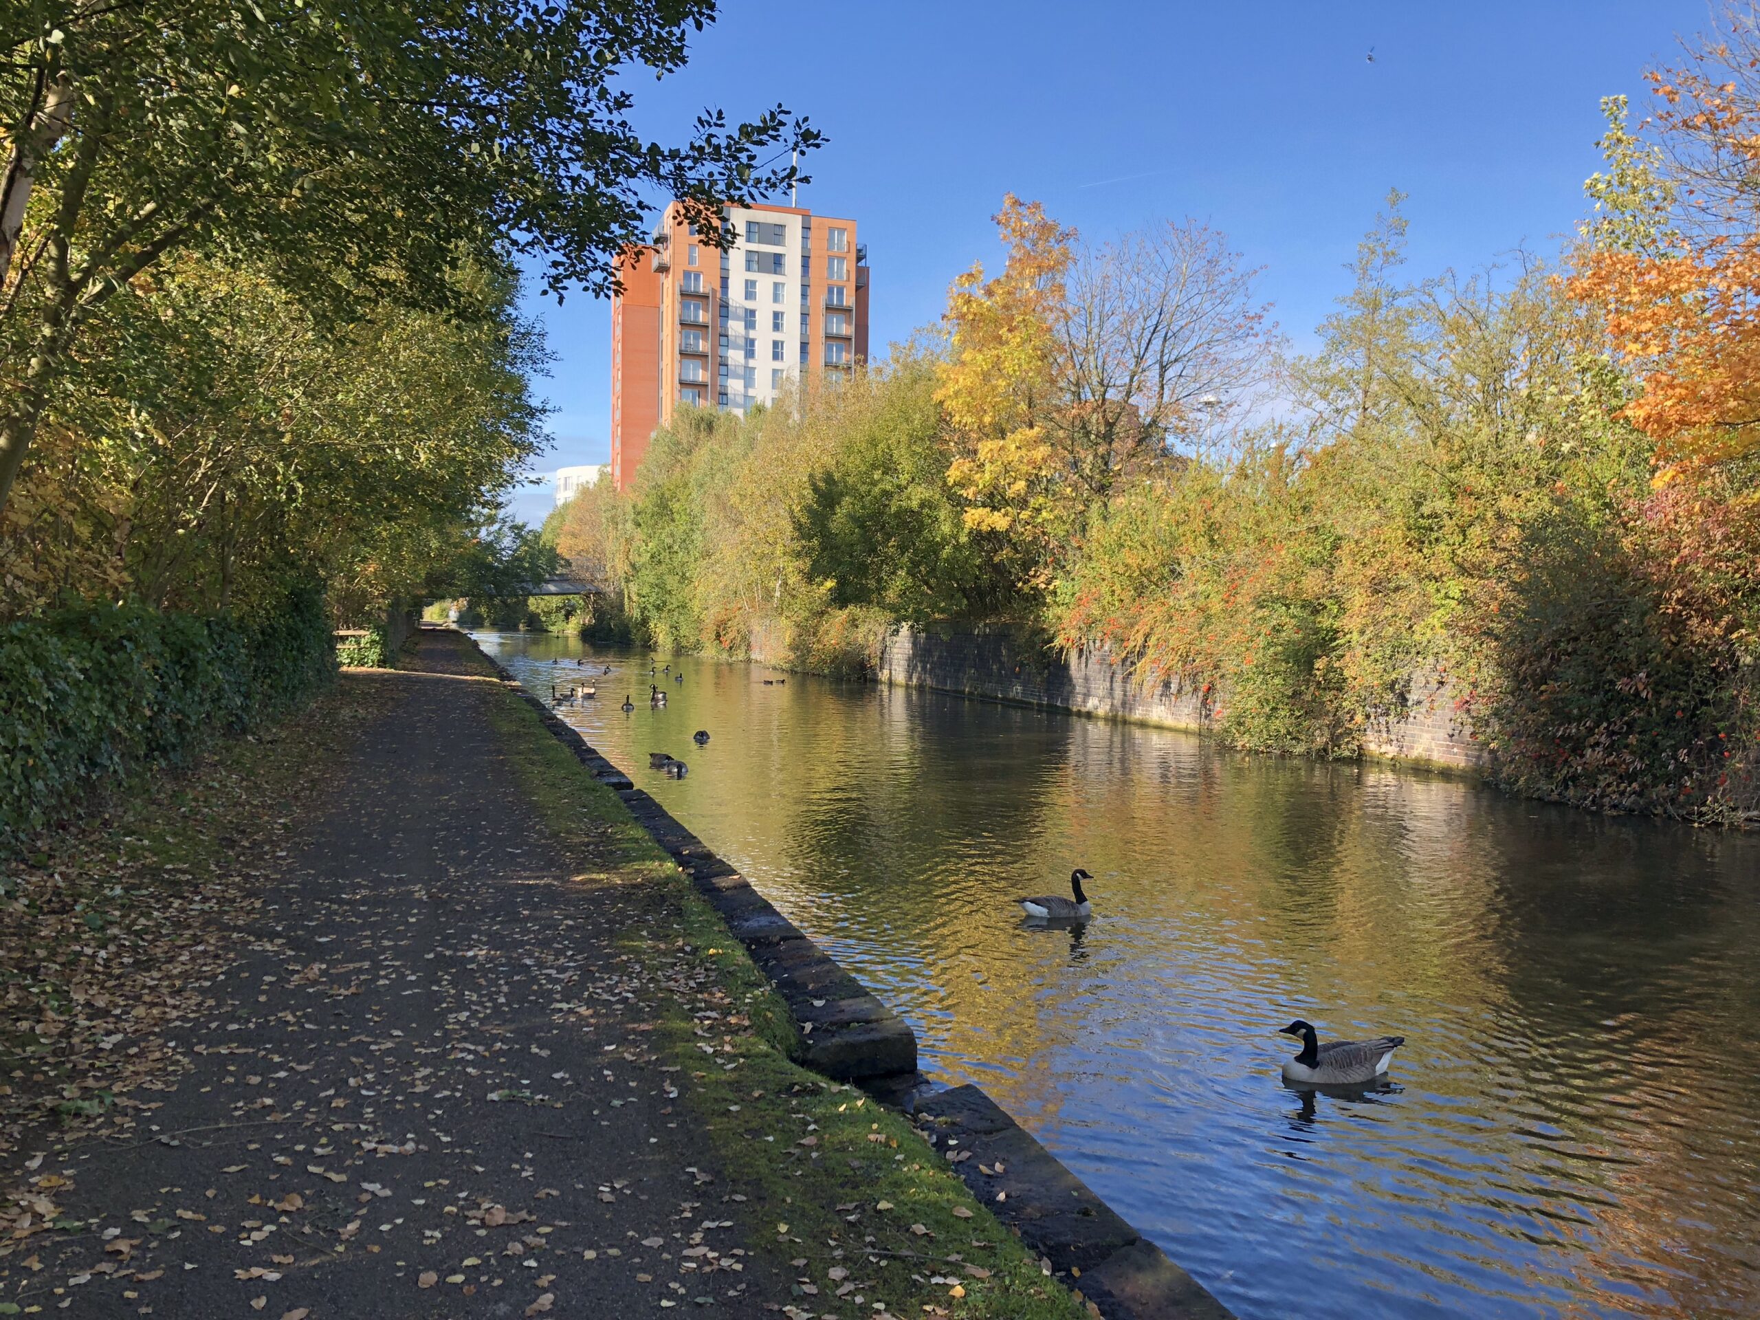
[[[458,630],[472,646],[477,639]],[[794,1016],[804,1044],[797,1060],[832,1081],[859,1082],[903,1107],[972,1193],[1049,1264],[1104,1320],[1234,1320],[1155,1243],[1132,1228],[1063,1167],[1033,1133],[972,1084],[931,1091],[917,1072],[917,1035],[855,977],[771,906],[732,866],[685,829],[581,730],[533,697],[477,646],[500,679],[588,773],[612,788],[635,822],[692,878]],[[1001,1163],[1003,1172],[989,1174]],[[998,1200],[998,1193],[1003,1193]]]

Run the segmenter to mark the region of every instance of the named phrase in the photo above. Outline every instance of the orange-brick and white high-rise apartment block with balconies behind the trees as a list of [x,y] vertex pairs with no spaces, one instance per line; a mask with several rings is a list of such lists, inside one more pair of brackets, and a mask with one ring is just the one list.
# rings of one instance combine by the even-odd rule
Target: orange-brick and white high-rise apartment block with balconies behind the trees
[[611,479],[621,491],[678,408],[744,412],[868,357],[868,250],[855,222],[729,206],[716,252],[665,209],[620,257],[611,304]]

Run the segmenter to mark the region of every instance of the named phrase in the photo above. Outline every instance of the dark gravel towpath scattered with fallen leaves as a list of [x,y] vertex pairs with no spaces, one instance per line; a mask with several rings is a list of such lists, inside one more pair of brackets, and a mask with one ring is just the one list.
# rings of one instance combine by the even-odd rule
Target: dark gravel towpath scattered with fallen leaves
[[428,672],[347,679],[391,700],[181,1033],[194,1068],[137,1093],[162,1105],[127,1135],[37,1142],[63,1227],[0,1262],[0,1315],[787,1304],[644,1044],[672,991],[616,936],[665,920],[660,898],[570,885],[595,859],[517,794],[500,693],[459,639],[422,655]]

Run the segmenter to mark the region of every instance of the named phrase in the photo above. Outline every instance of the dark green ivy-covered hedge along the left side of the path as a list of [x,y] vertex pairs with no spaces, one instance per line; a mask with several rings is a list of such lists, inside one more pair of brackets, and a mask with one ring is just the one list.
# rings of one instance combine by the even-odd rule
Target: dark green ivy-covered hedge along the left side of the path
[[0,854],[100,785],[185,760],[334,672],[315,590],[252,621],[83,605],[0,627]]

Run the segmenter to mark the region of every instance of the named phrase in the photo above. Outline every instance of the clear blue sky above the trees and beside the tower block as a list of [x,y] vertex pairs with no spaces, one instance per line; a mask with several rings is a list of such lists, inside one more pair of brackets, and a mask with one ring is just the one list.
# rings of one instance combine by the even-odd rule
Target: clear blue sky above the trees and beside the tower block
[[[704,106],[811,118],[829,144],[801,204],[859,222],[876,354],[998,259],[989,216],[1010,190],[1091,238],[1209,222],[1265,268],[1262,296],[1302,347],[1392,187],[1415,275],[1554,250],[1598,165],[1600,97],[1640,104],[1642,70],[1711,19],[1707,0],[732,0],[681,74],[630,86],[635,125],[664,141]],[[558,359],[537,382],[556,436],[539,470],[605,461],[609,304],[528,312]],[[547,489],[514,503],[547,507]]]

